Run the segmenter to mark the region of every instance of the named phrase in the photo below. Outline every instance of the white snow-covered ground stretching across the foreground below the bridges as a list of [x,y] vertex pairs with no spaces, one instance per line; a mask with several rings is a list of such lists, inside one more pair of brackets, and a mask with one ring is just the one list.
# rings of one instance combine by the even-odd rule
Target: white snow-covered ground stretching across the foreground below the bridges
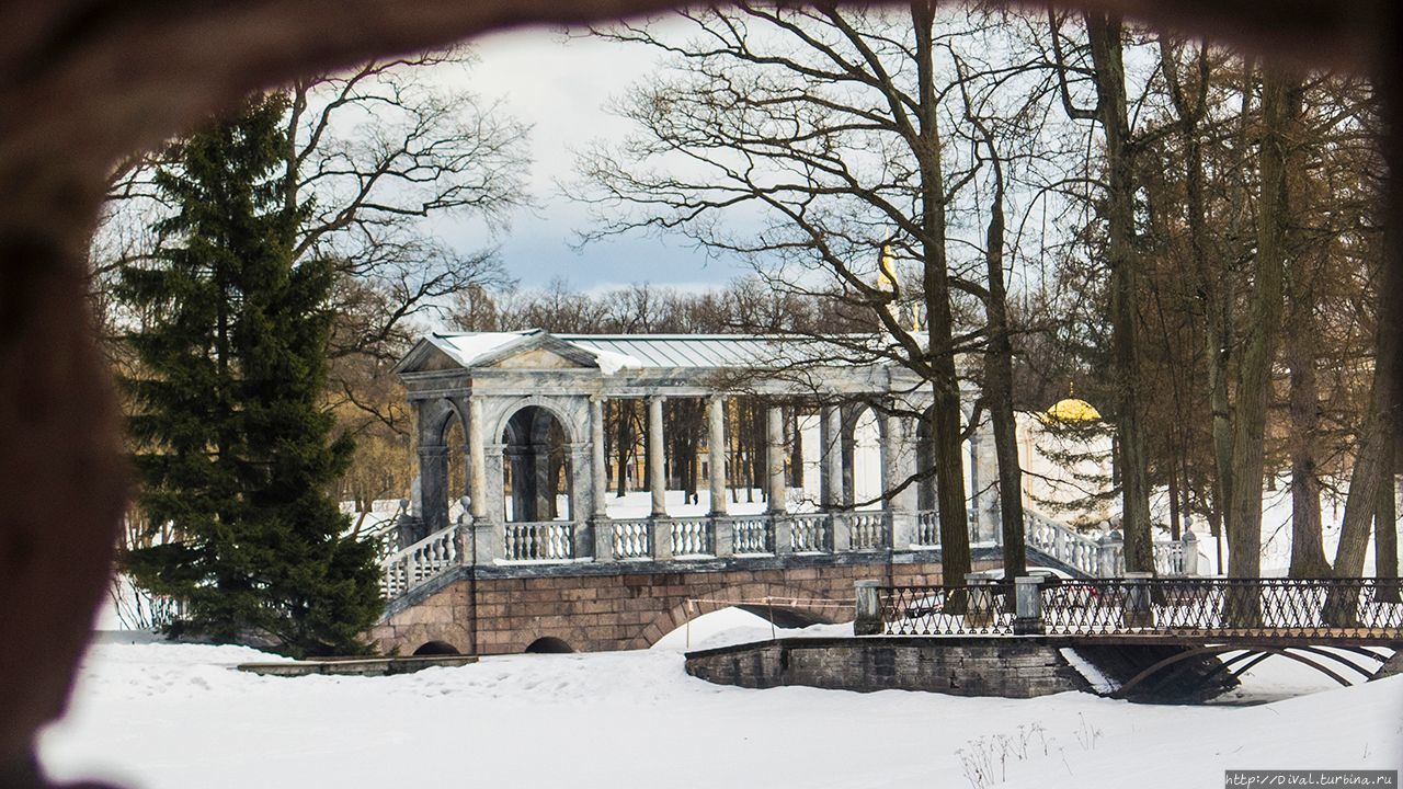
[[[734,609],[690,629],[693,649],[769,636],[769,623]],[[296,679],[234,671],[276,660],[241,647],[100,643],[41,758],[58,779],[149,789],[1179,789],[1221,786],[1228,768],[1403,767],[1403,677],[1324,689],[1273,658],[1249,677],[1250,692],[1316,692],[1201,708],[1083,694],[746,691],[687,677],[686,637],[634,653]]]

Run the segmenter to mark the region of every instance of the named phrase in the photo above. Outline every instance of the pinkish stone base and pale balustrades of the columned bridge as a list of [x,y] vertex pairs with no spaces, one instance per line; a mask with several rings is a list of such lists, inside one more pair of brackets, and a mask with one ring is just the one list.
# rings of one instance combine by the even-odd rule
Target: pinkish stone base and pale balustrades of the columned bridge
[[[1124,567],[1115,539],[1089,539],[1034,514],[1026,525],[1031,564],[1079,577]],[[567,526],[557,526],[558,555],[536,525],[523,536],[515,524],[474,526],[466,518],[393,553],[382,580],[386,615],[372,630],[377,646],[474,654],[644,649],[725,605],[765,608],[781,625],[843,622],[853,618],[857,581],[943,581],[934,531],[922,533],[927,545],[908,539],[892,549],[881,512],[605,521],[588,526],[596,552],[582,557],[568,553]],[[975,543],[972,553],[976,570],[1002,564],[996,543]],[[1198,553],[1193,539],[1164,541],[1155,556],[1162,573],[1183,574],[1194,571]],[[692,602],[699,599],[707,602]]]

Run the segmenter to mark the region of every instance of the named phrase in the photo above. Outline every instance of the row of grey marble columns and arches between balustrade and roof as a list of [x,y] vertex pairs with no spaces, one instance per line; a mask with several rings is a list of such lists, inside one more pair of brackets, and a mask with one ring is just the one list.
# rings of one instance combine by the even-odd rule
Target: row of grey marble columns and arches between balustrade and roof
[[[694,394],[685,394],[693,397]],[[495,393],[442,394],[414,400],[418,418],[419,484],[415,512],[419,536],[436,532],[449,525],[449,501],[457,491],[449,490],[448,428],[453,420],[463,424],[464,468],[466,468],[466,514],[473,522],[523,522],[567,519],[572,522],[605,521],[609,518],[609,469],[605,458],[605,403],[609,399],[643,399],[645,407],[648,501],[652,518],[668,518],[665,466],[666,442],[664,402],[666,394],[535,394],[521,396]],[[710,515],[727,515],[727,394],[707,394],[704,421],[707,427],[707,479],[710,491]],[[786,473],[786,406],[794,399],[772,397],[765,406],[765,489],[766,512],[780,515],[788,510],[788,484]],[[525,409],[533,409],[530,418],[522,417]],[[853,460],[845,462],[845,427],[850,431],[861,410],[853,410],[839,402],[817,403],[819,421],[819,508],[838,511],[850,508],[853,501]],[[847,414],[845,414],[847,411]],[[811,411],[812,413],[812,411]],[[912,418],[892,410],[875,411],[880,428],[881,480],[884,491],[894,483],[915,475],[915,423]],[[845,420],[845,416],[847,417]],[[544,448],[540,420],[554,420],[560,424],[563,445]],[[845,424],[845,421],[847,424]],[[565,486],[561,490],[554,469],[547,469],[543,452],[560,452],[565,465]],[[850,452],[850,448],[849,448]],[[509,458],[530,458],[535,462],[529,470],[526,460],[512,469],[513,505],[505,504],[506,472],[504,465]],[[523,475],[533,475],[525,480]],[[536,500],[567,494],[568,515],[551,518],[544,504],[530,505],[519,489],[535,487]],[[901,490],[884,494],[882,510],[901,519],[913,517],[918,507],[919,484],[906,484]]]

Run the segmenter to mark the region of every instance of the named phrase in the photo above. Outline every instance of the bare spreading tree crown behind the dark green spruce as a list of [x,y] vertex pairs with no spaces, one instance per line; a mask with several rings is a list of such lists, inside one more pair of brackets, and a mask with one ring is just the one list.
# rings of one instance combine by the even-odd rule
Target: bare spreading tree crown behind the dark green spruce
[[[490,233],[528,201],[526,129],[445,84],[469,63],[466,51],[425,53],[283,88],[289,145],[279,188],[283,209],[299,213],[295,254],[333,260],[340,275],[328,347],[334,404],[397,431],[394,413],[358,394],[366,375],[383,375],[424,320],[446,316],[455,293],[505,281],[494,250],[459,253],[424,220],[456,216]],[[159,241],[140,229],[166,211],[150,190],[163,160],[164,152],[130,157],[109,180],[109,219],[94,246],[100,299],[108,271]],[[133,319],[121,309],[114,316]]]

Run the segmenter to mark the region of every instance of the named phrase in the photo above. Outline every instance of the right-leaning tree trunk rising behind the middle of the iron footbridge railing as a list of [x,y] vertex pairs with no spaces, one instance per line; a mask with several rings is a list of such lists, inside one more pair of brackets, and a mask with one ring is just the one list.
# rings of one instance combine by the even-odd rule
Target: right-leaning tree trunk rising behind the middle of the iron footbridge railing
[[1282,241],[1287,219],[1285,145],[1292,79],[1277,69],[1261,84],[1261,197],[1257,201],[1257,261],[1251,323],[1243,348],[1233,431],[1232,500],[1228,521],[1228,574],[1261,574],[1261,483],[1264,435],[1271,400],[1282,300]]

